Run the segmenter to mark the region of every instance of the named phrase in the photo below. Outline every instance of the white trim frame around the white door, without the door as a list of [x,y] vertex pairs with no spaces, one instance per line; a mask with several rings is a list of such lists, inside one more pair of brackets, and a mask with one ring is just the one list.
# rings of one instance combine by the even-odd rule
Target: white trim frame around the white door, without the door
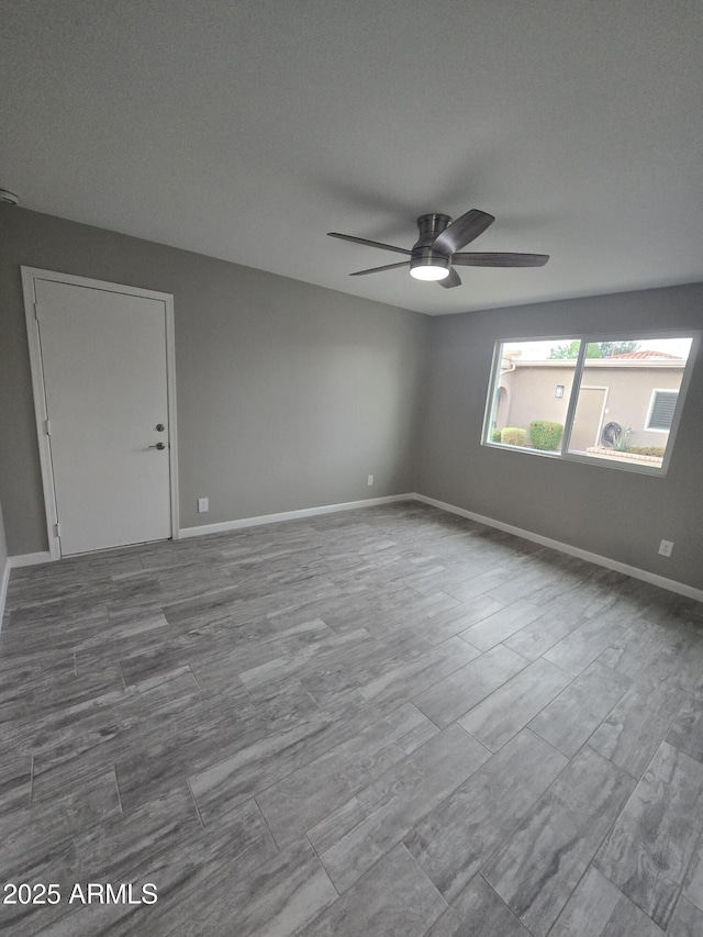
[[169,435],[169,476],[170,476],[170,520],[171,539],[179,537],[178,510],[178,422],[176,420],[176,346],[174,332],[174,297],[171,293],[160,293],[144,290],[138,287],[127,287],[122,283],[111,283],[104,280],[93,280],[88,277],[77,277],[72,274],[58,274],[53,270],[42,270],[38,267],[24,267],[22,271],[22,293],[24,297],[24,316],[30,349],[30,366],[32,369],[32,391],[34,397],[34,416],[36,420],[36,438],[38,443],[40,464],[42,467],[42,484],[44,489],[44,512],[46,516],[46,536],[52,559],[62,558],[60,539],[57,534],[58,515],[56,511],[56,490],[54,487],[54,469],[49,436],[46,432],[47,404],[42,365],[42,346],[40,341],[40,323],[36,314],[36,280],[51,280],[57,283],[68,283],[74,287],[102,290],[103,292],[123,293],[133,297],[158,300],[164,303],[166,325],[166,393],[168,401],[168,435]]

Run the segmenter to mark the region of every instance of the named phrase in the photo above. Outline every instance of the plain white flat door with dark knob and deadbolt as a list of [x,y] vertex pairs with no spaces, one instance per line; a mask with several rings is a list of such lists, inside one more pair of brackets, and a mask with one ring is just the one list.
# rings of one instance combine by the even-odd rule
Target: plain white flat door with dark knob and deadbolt
[[167,539],[165,302],[34,285],[62,555]]

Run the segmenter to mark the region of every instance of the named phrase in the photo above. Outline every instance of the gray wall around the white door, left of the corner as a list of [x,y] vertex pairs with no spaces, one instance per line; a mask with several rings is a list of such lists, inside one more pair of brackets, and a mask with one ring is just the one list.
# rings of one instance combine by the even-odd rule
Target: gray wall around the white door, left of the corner
[[11,555],[47,548],[20,265],[174,293],[181,527],[413,490],[426,316],[16,208],[0,246]]

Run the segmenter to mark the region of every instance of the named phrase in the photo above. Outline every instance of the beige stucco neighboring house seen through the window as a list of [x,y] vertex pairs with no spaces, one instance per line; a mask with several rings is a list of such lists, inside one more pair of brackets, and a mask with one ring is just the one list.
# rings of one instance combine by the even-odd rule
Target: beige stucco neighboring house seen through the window
[[[529,430],[533,420],[565,423],[573,383],[573,359],[501,364],[495,426]],[[663,352],[631,352],[589,358],[583,368],[570,440],[571,451],[602,445],[603,430],[618,424],[629,446],[666,447],[685,360]]]

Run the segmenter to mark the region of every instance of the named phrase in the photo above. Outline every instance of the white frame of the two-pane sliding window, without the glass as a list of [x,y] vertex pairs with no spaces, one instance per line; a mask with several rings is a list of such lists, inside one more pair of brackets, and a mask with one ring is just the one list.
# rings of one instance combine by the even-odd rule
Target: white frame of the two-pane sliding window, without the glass
[[[676,410],[673,413],[673,420],[671,422],[670,430],[647,430],[647,432],[660,432],[666,433],[668,435],[666,450],[663,455],[663,459],[661,461],[661,466],[654,466],[647,462],[636,462],[634,460],[615,460],[613,458],[609,458],[606,456],[599,456],[598,454],[580,454],[580,453],[570,453],[569,444],[571,432],[573,428],[573,417],[576,414],[576,408],[579,399],[579,390],[581,388],[581,380],[583,377],[583,368],[587,361],[587,350],[588,346],[591,343],[598,342],[649,342],[665,338],[691,338],[691,349],[689,352],[689,357],[683,369],[683,375],[681,378],[681,386],[678,389],[678,400]],[[557,343],[570,343],[573,341],[579,341],[581,344],[579,346],[579,355],[576,359],[576,365],[573,369],[573,381],[571,383],[571,393],[569,397],[569,402],[567,406],[567,413],[563,422],[563,436],[561,438],[561,444],[559,450],[554,453],[547,453],[540,449],[532,449],[523,446],[510,446],[504,443],[493,443],[491,442],[491,423],[493,421],[495,414],[495,408],[493,403],[493,398],[495,394],[495,390],[500,382],[501,376],[501,360],[503,355],[501,353],[502,347],[504,345],[517,344],[520,342],[553,342]],[[676,445],[676,436],[677,431],[679,428],[679,422],[681,420],[681,412],[685,404],[687,392],[689,389],[689,383],[691,381],[691,373],[693,371],[694,362],[699,354],[699,347],[701,344],[701,332],[696,330],[677,330],[677,331],[667,331],[667,332],[645,332],[640,330],[632,330],[624,333],[605,333],[605,332],[594,332],[588,334],[573,334],[568,333],[566,335],[528,335],[528,336],[514,336],[509,335],[506,337],[496,338],[493,347],[493,362],[491,366],[491,375],[488,386],[488,393],[486,397],[486,410],[483,414],[483,425],[481,430],[481,445],[487,446],[494,449],[501,449],[502,451],[510,453],[521,453],[527,456],[537,456],[546,459],[560,459],[563,461],[574,461],[581,462],[583,465],[595,466],[598,468],[614,468],[621,471],[633,471],[639,475],[651,475],[657,476],[659,478],[666,476],[669,464],[671,461],[671,455]],[[674,390],[673,388],[663,388],[671,392]],[[656,392],[656,391],[655,391]],[[654,401],[654,393],[652,393]],[[650,409],[654,405],[650,402]],[[650,413],[647,415],[647,424],[649,423]],[[646,424],[646,425],[647,425]]]

